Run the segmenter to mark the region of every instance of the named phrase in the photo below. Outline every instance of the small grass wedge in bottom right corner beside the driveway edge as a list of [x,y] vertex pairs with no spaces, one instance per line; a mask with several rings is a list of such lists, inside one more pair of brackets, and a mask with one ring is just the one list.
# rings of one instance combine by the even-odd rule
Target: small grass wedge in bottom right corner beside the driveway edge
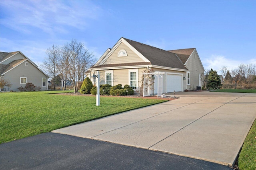
[[239,154],[238,167],[240,170],[256,170],[256,120],[252,124]]

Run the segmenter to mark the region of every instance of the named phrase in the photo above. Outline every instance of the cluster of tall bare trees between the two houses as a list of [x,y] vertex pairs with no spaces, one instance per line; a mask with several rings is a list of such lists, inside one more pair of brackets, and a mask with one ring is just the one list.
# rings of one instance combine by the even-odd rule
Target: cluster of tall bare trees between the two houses
[[[40,66],[53,81],[56,89],[57,78],[70,80],[74,92],[78,92],[78,84],[85,78],[85,72],[96,62],[94,55],[84,48],[84,44],[73,39],[60,47],[52,45],[46,50],[43,64]],[[66,83],[64,86],[66,90]]]

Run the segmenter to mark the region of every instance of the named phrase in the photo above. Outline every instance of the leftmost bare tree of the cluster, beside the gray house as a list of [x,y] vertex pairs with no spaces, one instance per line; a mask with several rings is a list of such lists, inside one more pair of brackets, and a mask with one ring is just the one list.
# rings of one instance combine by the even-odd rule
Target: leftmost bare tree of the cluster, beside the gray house
[[40,67],[54,81],[54,90],[55,90],[56,76],[58,73],[57,61],[58,61],[58,56],[60,55],[60,48],[58,47],[58,45],[52,45],[52,47],[47,49],[45,53],[48,57],[44,59],[43,66],[40,66]]

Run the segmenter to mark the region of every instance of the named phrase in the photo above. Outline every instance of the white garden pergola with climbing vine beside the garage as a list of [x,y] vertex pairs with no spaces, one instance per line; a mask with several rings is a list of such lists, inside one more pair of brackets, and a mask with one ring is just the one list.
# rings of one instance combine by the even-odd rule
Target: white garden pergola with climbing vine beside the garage
[[[156,75],[157,76],[157,96],[160,97],[163,94],[163,74],[164,72],[147,72],[142,73],[142,75]],[[144,96],[150,96],[150,86],[148,86],[146,92],[145,92],[145,78],[143,82],[143,97]],[[149,80],[148,80],[149,81]],[[150,84],[150,83],[149,83]],[[154,89],[153,89],[154,92]],[[147,93],[147,94],[146,94]]]

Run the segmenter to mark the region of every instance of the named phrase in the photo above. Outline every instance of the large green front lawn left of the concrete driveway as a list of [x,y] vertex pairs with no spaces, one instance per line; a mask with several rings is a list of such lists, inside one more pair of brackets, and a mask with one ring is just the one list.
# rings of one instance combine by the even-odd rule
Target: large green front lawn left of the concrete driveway
[[96,106],[96,96],[54,94],[62,92],[0,93],[0,143],[166,101],[101,97]]

